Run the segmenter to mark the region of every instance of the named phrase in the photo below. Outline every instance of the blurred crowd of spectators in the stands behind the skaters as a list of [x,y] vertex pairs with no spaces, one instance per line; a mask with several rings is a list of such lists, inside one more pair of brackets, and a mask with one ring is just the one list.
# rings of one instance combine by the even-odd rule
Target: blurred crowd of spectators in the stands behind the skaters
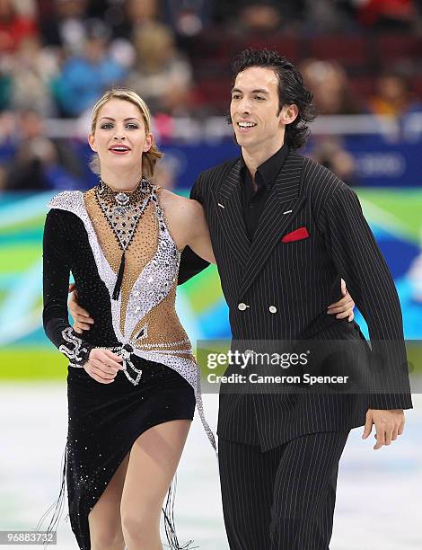
[[[46,120],[86,117],[111,86],[164,120],[224,112],[247,46],[291,58],[320,114],[421,111],[422,0],[0,0],[0,189],[77,187]],[[315,155],[347,180],[337,142]]]

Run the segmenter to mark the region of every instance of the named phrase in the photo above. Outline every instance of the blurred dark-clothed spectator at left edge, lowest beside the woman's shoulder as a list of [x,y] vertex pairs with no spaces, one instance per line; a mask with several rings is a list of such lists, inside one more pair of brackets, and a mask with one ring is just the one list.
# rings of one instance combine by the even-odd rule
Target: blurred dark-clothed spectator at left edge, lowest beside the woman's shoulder
[[46,136],[44,121],[38,112],[19,112],[13,137],[17,139],[16,154],[5,167],[7,191],[83,187],[80,160],[64,140]]

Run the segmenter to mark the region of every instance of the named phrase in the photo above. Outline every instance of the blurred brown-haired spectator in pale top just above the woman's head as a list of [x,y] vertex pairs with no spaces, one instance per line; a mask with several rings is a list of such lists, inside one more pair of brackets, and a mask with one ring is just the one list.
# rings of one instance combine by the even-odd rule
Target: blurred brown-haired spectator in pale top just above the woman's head
[[179,114],[189,108],[192,74],[176,49],[170,28],[151,23],[136,31],[136,66],[127,87],[148,103],[151,111]]

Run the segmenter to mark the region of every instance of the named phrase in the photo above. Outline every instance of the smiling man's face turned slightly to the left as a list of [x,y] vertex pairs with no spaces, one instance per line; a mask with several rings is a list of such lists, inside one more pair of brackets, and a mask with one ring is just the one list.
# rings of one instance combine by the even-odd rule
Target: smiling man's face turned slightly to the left
[[232,90],[230,115],[237,143],[249,153],[279,148],[284,142],[283,111],[278,112],[278,79],[270,68],[239,73]]

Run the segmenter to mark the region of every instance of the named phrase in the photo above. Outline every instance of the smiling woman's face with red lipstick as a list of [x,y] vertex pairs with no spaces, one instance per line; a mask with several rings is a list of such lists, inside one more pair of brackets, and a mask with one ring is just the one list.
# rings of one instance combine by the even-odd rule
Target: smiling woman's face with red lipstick
[[140,170],[142,155],[153,145],[153,136],[145,133],[144,119],[134,103],[112,98],[101,107],[88,141],[100,158],[101,172],[115,172]]

